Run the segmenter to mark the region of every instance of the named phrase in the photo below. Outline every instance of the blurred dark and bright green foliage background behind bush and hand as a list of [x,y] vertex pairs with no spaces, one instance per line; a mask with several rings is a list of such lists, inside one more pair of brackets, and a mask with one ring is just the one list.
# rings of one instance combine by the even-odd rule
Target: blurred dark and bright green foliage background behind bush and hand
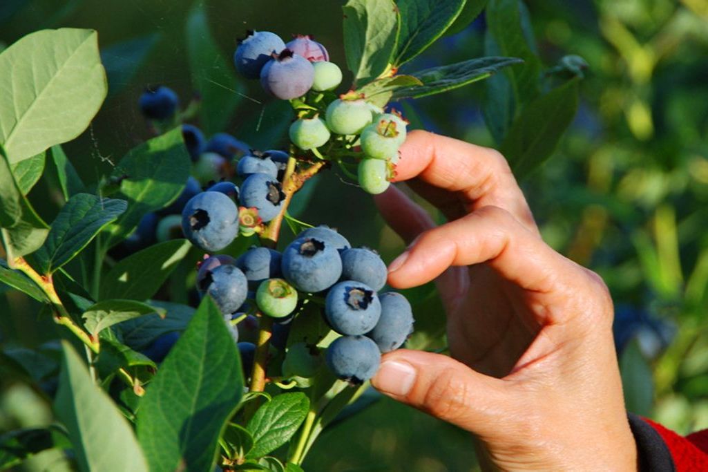
[[[204,4],[211,30],[205,34],[214,35],[225,57],[247,29],[258,29],[284,38],[312,34],[331,60],[345,63],[340,2]],[[1,2],[0,47],[42,28],[98,30],[109,98],[91,128],[65,146],[84,181],[110,172],[111,162],[149,137],[137,109],[146,84],[170,86],[183,104],[193,97],[185,39],[192,6],[191,0]],[[629,410],[680,433],[708,427],[708,0],[546,0],[528,6],[547,67],[568,54],[581,55],[590,67],[578,116],[554,157],[523,181],[526,196],[545,240],[610,286]],[[406,67],[479,57],[483,38],[480,18]],[[261,136],[282,130],[276,129],[278,108],[267,106],[272,101],[257,83],[213,86],[241,97],[226,131],[256,147],[278,144]],[[404,111],[413,125],[494,145],[481,112],[484,94],[481,82],[444,99],[405,103]],[[256,126],[259,135],[252,131]],[[341,184],[336,173],[319,179],[299,218],[338,227],[355,245],[380,248],[390,262],[403,243],[370,198]],[[36,186],[30,200],[53,218],[58,207],[49,186]],[[411,344],[439,347],[442,341],[431,335],[444,329],[438,301],[429,288],[410,296],[423,300],[416,317],[427,328]],[[48,317],[19,293],[4,292],[0,313],[4,347],[35,347],[56,336]],[[5,387],[0,430],[46,421],[49,413],[40,403],[33,415],[19,413],[19,400],[27,410],[25,402],[36,397],[31,390]],[[308,471],[476,468],[467,434],[389,400],[325,432],[304,465]]]

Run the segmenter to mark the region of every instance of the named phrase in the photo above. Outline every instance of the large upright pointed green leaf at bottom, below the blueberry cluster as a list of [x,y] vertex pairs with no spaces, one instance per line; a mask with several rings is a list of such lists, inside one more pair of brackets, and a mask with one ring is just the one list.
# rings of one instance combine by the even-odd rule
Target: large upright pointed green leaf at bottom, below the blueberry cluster
[[205,297],[147,386],[137,435],[153,472],[212,468],[224,424],[244,390],[222,314]]

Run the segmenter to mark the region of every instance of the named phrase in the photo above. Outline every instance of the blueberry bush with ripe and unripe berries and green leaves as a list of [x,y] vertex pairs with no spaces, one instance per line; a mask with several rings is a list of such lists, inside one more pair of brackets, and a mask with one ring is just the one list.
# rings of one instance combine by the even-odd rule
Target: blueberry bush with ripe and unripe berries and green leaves
[[[147,86],[137,107],[155,137],[93,184],[81,181],[61,144],[86,130],[107,93],[96,32],[42,30],[2,52],[0,282],[43,303],[40,315],[65,328],[66,339],[53,380],[38,386],[56,424],[4,435],[12,448],[0,464],[55,448],[84,471],[302,470],[319,433],[367,388],[382,353],[413,330],[411,304],[386,288],[375,250],[289,212],[312,193],[309,179],[337,172],[382,193],[409,126],[393,103],[508,66],[494,78],[519,110],[499,118],[491,108],[489,123],[506,137],[516,168],[545,159],[573,116],[581,72],[540,73],[517,1],[490,4],[513,4],[516,15],[504,34],[490,35],[496,55],[401,72],[485,4],[348,1],[350,76],[312,36],[285,43],[278,33],[249,31],[233,64],[289,104],[280,147],[253,149],[247,142],[256,136],[242,141],[215,129],[214,116],[181,106],[169,84]],[[199,15],[197,7],[194,21]],[[515,55],[533,67],[518,69]],[[211,120],[208,140],[183,123],[198,113]],[[538,130],[539,117],[553,129]],[[27,198],[45,160],[64,201],[51,224]],[[185,261],[192,269],[171,278]],[[173,279],[193,280],[193,293]],[[38,380],[26,360],[4,352],[4,375]]]

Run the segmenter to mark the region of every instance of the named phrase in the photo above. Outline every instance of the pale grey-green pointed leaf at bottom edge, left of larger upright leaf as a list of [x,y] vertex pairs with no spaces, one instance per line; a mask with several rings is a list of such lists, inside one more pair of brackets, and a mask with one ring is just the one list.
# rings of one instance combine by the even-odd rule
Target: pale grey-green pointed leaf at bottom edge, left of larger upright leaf
[[132,428],[66,341],[55,412],[69,432],[81,471],[146,471]]

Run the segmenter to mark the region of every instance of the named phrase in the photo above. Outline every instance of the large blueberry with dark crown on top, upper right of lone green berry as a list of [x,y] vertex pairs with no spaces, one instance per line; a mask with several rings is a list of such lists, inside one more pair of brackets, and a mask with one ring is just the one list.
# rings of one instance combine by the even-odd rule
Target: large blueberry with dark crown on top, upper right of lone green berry
[[282,274],[300,291],[320,292],[339,280],[342,259],[336,247],[329,243],[302,237],[282,252]]

